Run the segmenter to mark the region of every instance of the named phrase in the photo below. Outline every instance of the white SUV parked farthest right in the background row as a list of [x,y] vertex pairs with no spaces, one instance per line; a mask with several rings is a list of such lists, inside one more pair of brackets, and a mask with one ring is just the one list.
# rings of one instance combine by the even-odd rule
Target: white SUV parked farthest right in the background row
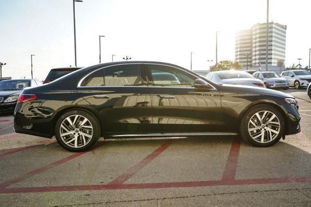
[[287,70],[283,71],[281,76],[287,79],[289,86],[294,86],[295,89],[308,87],[311,82],[311,74],[306,70]]

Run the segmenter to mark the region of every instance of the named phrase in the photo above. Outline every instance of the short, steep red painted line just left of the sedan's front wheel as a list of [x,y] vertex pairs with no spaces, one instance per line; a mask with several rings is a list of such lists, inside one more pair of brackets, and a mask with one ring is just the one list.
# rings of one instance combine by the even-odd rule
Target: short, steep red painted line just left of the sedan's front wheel
[[234,180],[240,154],[241,138],[235,138],[231,144],[222,180]]

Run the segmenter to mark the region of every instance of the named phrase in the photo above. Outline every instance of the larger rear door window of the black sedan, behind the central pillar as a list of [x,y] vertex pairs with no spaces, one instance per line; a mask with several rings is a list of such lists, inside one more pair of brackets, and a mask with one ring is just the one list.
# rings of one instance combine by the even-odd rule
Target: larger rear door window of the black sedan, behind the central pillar
[[142,84],[138,64],[123,64],[104,69],[105,86],[139,86]]

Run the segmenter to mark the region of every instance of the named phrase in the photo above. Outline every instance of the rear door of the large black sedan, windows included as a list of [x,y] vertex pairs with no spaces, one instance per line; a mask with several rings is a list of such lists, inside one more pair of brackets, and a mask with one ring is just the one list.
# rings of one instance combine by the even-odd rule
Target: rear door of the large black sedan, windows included
[[117,64],[87,76],[78,87],[100,114],[104,132],[142,133],[152,122],[151,99],[141,64]]

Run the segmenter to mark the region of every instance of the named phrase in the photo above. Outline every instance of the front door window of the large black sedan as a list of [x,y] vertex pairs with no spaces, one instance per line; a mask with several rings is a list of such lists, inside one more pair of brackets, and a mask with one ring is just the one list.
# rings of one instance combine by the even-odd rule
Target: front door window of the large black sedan
[[155,86],[193,87],[194,81],[197,79],[174,67],[156,64],[148,66]]

